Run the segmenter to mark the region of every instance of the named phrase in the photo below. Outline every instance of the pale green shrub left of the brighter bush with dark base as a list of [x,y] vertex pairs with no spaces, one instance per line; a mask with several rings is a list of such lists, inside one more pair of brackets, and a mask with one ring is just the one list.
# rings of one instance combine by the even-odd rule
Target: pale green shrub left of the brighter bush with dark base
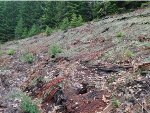
[[21,56],[21,60],[24,62],[32,63],[34,61],[34,56],[31,53],[26,52]]

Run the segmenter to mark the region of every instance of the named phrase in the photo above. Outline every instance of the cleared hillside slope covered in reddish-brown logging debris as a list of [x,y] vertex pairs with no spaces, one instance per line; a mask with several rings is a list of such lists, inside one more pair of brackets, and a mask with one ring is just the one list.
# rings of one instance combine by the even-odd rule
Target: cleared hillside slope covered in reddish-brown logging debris
[[[51,58],[54,44],[62,52]],[[21,112],[20,99],[10,96],[20,90],[41,100],[43,113],[150,113],[150,8],[10,41],[1,50],[0,113]]]

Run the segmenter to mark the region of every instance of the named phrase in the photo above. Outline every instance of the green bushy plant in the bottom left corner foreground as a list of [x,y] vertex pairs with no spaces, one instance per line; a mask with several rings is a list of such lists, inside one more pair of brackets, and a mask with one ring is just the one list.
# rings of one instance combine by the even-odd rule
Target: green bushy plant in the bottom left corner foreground
[[37,105],[32,101],[31,97],[20,91],[13,91],[10,95],[12,98],[21,99],[20,108],[25,113],[40,113]]

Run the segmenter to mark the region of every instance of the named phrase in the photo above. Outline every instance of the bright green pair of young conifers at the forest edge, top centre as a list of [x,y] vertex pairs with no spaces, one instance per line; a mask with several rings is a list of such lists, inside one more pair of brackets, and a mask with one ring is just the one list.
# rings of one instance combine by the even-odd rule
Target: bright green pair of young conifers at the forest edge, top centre
[[73,13],[73,14],[72,14],[72,19],[71,19],[70,25],[71,25],[72,27],[78,27],[78,26],[82,25],[82,23],[83,23],[82,16],[79,15],[79,16],[77,17],[77,15],[76,15],[75,13]]

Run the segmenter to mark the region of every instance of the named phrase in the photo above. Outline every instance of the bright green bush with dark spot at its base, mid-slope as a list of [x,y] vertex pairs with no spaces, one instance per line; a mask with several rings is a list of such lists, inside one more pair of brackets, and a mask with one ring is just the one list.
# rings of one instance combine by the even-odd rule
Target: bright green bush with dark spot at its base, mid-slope
[[62,49],[60,48],[59,45],[54,44],[49,48],[48,52],[52,58],[55,58],[58,53],[62,52]]

